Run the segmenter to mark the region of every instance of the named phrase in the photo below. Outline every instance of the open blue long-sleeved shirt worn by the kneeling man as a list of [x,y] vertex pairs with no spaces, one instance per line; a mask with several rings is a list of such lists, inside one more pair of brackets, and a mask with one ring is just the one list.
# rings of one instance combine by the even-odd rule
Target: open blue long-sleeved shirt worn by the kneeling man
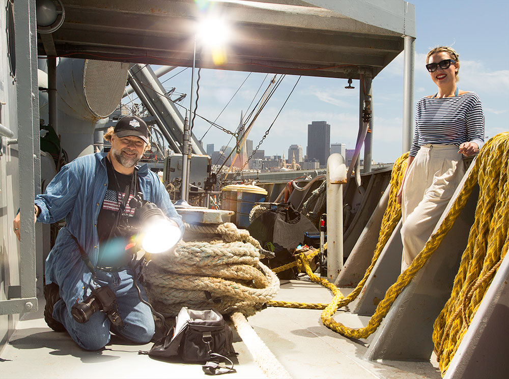
[[[76,158],[62,167],[45,193],[35,199],[35,204],[41,209],[38,222],[66,220],[66,227],[59,231],[46,259],[46,284],[57,283],[64,299],[81,300],[87,295],[92,280],[92,273],[83,263],[70,234],[89,255],[92,265],[97,265],[97,217],[108,188],[105,157],[106,153],[96,153]],[[157,174],[146,164],[142,165],[138,169],[138,181],[144,199],[154,202],[167,217],[175,220],[183,233],[182,218]]]

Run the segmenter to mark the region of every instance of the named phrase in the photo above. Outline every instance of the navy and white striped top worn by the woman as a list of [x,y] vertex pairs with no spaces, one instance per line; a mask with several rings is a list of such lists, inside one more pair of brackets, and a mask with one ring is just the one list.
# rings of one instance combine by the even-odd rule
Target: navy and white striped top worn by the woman
[[475,142],[479,149],[484,144],[483,105],[475,92],[417,102],[415,131],[410,156],[415,157],[422,145],[460,145]]

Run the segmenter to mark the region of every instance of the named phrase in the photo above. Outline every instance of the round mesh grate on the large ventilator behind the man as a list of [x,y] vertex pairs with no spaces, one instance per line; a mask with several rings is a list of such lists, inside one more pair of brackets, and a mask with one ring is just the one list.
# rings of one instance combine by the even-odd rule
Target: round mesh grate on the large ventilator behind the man
[[100,118],[110,115],[122,100],[128,64],[87,60],[83,73],[85,99]]

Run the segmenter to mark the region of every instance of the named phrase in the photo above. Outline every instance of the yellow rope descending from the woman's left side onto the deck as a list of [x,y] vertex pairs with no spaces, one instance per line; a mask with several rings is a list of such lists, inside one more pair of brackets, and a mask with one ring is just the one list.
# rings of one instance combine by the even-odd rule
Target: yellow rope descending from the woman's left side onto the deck
[[[408,158],[408,153],[403,154],[400,158],[398,158],[394,162],[394,166],[392,167],[392,174],[390,178],[390,189],[389,189],[389,201],[387,203],[387,208],[384,212],[383,218],[382,218],[382,225],[380,228],[380,235],[378,237],[377,246],[375,247],[375,252],[373,254],[373,258],[371,260],[371,265],[369,268],[367,268],[364,277],[359,282],[359,284],[355,287],[355,289],[347,296],[344,297],[340,290],[329,281],[322,279],[320,277],[315,276],[311,270],[309,269],[309,278],[319,284],[322,284],[324,287],[329,288],[332,291],[332,294],[334,295],[334,298],[332,299],[332,302],[330,304],[310,304],[310,303],[294,303],[294,302],[275,302],[271,301],[267,303],[267,305],[271,306],[279,306],[279,307],[287,307],[287,308],[306,308],[306,309],[325,309],[327,311],[327,315],[324,319],[324,312],[322,312],[322,320],[323,323],[333,329],[329,325],[333,325],[334,321],[332,320],[332,314],[337,310],[338,307],[344,307],[345,305],[352,302],[359,294],[364,286],[367,278],[370,276],[371,271],[375,267],[375,264],[377,263],[377,260],[389,240],[389,237],[392,234],[392,231],[398,224],[401,218],[401,206],[398,204],[397,201],[397,194],[398,190],[401,185],[401,181],[403,180],[403,174],[405,172],[406,167],[406,161]],[[294,266],[298,263],[293,263]],[[306,264],[305,260],[302,260],[302,264]],[[290,264],[289,264],[290,265]],[[288,265],[285,265],[288,266]],[[285,267],[282,266],[282,267]],[[293,267],[293,266],[292,266]],[[308,271],[308,268],[306,268],[306,272]],[[278,268],[279,269],[279,268]],[[334,329],[333,329],[334,330]]]

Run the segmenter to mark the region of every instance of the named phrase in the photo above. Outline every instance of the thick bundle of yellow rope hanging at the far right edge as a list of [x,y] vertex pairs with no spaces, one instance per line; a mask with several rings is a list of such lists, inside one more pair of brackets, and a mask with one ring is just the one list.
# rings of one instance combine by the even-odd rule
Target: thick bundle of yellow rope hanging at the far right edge
[[509,133],[486,142],[472,171],[480,189],[475,221],[451,296],[433,331],[442,376],[509,248]]

